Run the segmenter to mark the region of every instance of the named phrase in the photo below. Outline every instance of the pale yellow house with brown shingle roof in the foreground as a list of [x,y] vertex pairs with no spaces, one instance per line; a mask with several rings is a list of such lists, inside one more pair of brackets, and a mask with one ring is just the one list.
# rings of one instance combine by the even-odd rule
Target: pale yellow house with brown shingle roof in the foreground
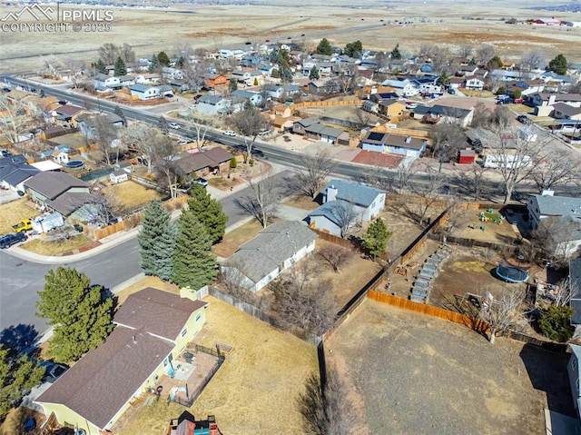
[[35,401],[62,426],[87,435],[108,432],[136,397],[175,371],[172,361],[202,330],[207,305],[151,287],[131,294],[105,342]]

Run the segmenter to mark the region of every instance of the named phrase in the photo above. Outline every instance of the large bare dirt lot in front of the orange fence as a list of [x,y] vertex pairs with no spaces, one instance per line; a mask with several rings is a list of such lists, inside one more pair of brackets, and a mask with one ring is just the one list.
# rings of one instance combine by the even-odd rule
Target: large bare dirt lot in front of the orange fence
[[[543,409],[575,415],[565,355],[366,301],[328,339],[362,406],[359,433],[544,433]],[[332,353],[330,352],[332,351]]]

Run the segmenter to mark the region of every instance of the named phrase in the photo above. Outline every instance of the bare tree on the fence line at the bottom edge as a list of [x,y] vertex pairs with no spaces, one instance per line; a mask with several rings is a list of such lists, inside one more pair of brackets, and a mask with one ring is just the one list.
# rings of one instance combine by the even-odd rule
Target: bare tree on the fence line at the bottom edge
[[325,387],[320,376],[310,374],[305,391],[300,393],[297,409],[310,435],[350,435],[359,429],[359,416],[351,403],[349,390],[335,368],[325,373]]

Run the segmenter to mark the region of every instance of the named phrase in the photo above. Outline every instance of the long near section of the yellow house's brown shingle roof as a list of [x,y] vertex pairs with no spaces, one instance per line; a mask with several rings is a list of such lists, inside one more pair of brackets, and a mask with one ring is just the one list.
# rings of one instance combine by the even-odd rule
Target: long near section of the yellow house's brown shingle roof
[[62,403],[104,429],[172,349],[171,342],[144,328],[117,326],[103,345],[84,355],[36,401]]

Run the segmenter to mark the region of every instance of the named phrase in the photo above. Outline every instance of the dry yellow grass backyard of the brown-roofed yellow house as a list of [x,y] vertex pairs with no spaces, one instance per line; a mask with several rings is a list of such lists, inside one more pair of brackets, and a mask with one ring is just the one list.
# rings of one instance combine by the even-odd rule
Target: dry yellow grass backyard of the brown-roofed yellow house
[[[317,369],[315,347],[212,296],[204,301],[210,302],[207,321],[195,342],[207,347],[225,343],[233,350],[192,413],[199,418],[215,415],[220,430],[229,435],[300,433],[295,398]],[[183,410],[162,400],[142,406],[119,435],[165,432],[169,420]]]

